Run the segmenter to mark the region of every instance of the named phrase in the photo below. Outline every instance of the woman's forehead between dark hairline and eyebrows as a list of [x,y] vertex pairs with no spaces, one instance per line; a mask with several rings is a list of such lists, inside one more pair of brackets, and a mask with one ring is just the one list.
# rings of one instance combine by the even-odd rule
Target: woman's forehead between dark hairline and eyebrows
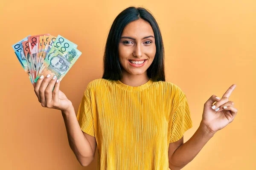
[[154,36],[154,31],[150,23],[142,19],[128,23],[122,31],[122,36],[132,36],[134,38],[149,35]]

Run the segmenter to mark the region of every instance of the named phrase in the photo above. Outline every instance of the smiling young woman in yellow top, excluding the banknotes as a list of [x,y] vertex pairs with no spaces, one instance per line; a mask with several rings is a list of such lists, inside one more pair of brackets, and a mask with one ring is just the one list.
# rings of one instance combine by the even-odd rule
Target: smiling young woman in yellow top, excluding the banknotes
[[52,76],[38,79],[39,102],[61,110],[70,147],[82,166],[93,161],[98,146],[100,170],[180,170],[237,114],[228,100],[232,85],[222,98],[207,100],[198,130],[183,143],[192,127],[188,101],[177,85],[165,81],[162,36],[145,8],[126,8],[114,20],[103,77],[89,82],[77,116]]

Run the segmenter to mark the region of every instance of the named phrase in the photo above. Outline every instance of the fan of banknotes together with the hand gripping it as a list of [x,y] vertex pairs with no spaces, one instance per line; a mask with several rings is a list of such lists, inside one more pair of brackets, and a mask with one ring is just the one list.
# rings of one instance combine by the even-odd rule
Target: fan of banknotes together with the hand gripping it
[[43,107],[67,111],[73,107],[59,90],[60,81],[82,54],[77,45],[58,35],[28,36],[12,45]]

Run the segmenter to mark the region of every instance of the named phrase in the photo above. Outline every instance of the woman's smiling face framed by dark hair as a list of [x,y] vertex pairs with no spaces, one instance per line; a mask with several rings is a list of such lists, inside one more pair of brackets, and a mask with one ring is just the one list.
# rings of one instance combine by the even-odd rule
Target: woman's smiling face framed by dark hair
[[[156,54],[154,31],[151,25],[139,19],[125,26],[119,41],[118,52],[123,71],[133,75],[146,75],[146,70]],[[142,61],[138,62],[138,60]]]

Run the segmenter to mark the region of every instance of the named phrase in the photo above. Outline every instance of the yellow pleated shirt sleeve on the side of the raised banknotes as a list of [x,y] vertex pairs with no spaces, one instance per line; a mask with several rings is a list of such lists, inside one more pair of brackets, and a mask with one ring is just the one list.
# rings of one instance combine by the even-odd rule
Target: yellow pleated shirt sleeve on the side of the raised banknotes
[[84,91],[84,96],[82,97],[82,100],[80,102],[76,118],[79,122],[81,130],[89,134],[90,136],[95,137],[90,95],[90,88],[89,85],[87,85],[87,88]]

